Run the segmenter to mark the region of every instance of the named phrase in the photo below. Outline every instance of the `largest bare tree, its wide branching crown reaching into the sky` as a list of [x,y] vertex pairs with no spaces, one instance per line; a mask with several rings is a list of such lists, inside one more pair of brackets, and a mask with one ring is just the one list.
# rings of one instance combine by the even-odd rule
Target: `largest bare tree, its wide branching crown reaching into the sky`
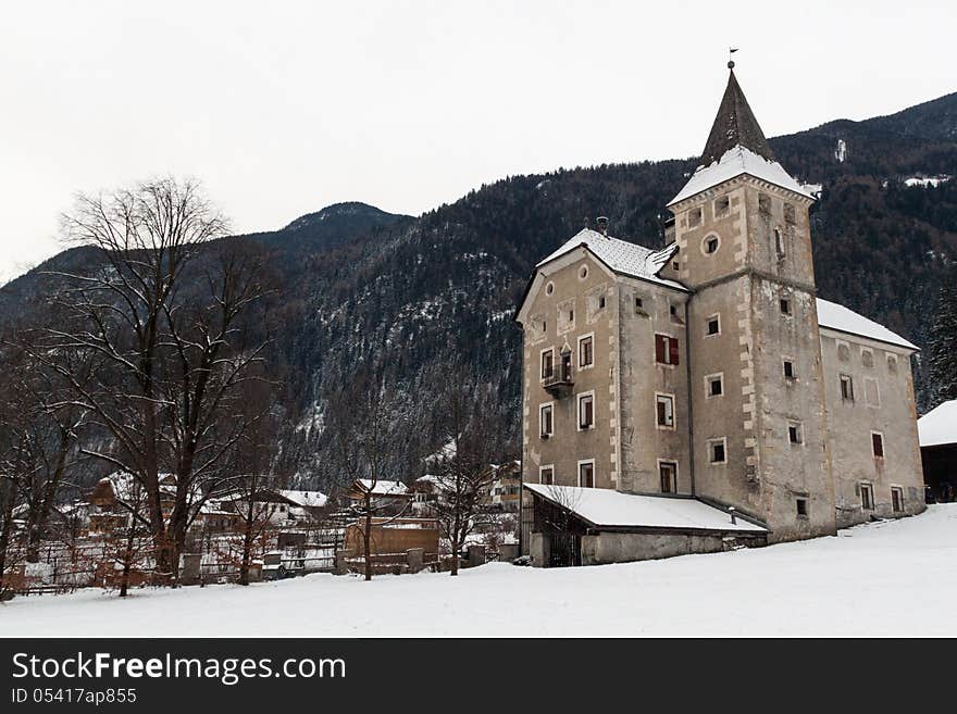
[[[98,264],[58,274],[69,318],[46,330],[37,352],[95,361],[88,384],[48,364],[70,387],[67,403],[110,437],[107,449],[84,453],[140,484],[158,569],[175,578],[186,531],[243,433],[237,387],[262,352],[243,317],[263,296],[261,265],[239,239],[204,247],[226,221],[194,181],[79,196],[62,225],[66,240],[96,249]],[[163,472],[176,476],[169,522]]]

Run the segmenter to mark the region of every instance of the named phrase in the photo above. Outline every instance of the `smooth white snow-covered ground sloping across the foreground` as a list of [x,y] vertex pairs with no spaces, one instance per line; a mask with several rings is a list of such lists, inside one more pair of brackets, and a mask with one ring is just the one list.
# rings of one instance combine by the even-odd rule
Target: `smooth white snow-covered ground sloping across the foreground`
[[955,636],[957,504],[834,538],[564,569],[21,598],[4,636]]

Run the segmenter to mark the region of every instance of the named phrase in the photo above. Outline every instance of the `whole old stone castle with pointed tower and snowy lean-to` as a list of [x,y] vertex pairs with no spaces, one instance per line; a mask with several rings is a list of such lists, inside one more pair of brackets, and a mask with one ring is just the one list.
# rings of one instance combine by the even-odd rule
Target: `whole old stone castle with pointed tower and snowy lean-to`
[[813,191],[734,75],[660,250],[583,229],[534,270],[522,543],[536,565],[834,535],[924,509],[903,337],[816,298]]

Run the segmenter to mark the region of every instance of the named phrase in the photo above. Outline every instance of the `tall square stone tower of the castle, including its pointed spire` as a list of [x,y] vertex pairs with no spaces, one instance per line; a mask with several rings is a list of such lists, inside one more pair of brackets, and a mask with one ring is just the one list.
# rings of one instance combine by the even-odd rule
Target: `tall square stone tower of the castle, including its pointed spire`
[[700,166],[669,203],[662,277],[688,302],[694,492],[765,521],[774,540],[835,530],[808,210],[733,63]]

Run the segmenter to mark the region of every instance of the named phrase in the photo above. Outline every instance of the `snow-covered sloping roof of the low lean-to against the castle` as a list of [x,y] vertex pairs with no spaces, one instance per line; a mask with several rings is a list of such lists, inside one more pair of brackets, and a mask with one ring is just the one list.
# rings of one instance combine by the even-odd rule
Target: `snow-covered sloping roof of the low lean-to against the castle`
[[767,533],[767,528],[741,517],[732,524],[725,511],[693,498],[636,496],[610,488],[524,486],[595,526]]

